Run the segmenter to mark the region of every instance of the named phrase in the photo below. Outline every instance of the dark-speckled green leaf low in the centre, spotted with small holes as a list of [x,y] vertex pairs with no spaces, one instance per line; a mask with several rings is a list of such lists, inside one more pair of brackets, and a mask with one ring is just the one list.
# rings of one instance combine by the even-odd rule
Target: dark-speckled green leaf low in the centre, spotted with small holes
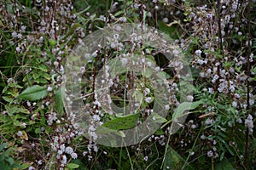
[[132,114],[128,116],[119,116],[111,121],[104,122],[103,127],[108,127],[113,130],[125,130],[137,126],[137,120],[140,114]]

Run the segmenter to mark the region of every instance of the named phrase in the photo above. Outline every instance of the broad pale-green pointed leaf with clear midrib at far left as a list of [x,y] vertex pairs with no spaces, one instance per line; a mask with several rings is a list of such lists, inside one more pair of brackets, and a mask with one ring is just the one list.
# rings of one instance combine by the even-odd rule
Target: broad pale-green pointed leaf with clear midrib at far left
[[43,99],[47,94],[48,91],[46,87],[35,85],[30,88],[26,88],[26,90],[18,95],[18,98],[34,101],[38,99]]

